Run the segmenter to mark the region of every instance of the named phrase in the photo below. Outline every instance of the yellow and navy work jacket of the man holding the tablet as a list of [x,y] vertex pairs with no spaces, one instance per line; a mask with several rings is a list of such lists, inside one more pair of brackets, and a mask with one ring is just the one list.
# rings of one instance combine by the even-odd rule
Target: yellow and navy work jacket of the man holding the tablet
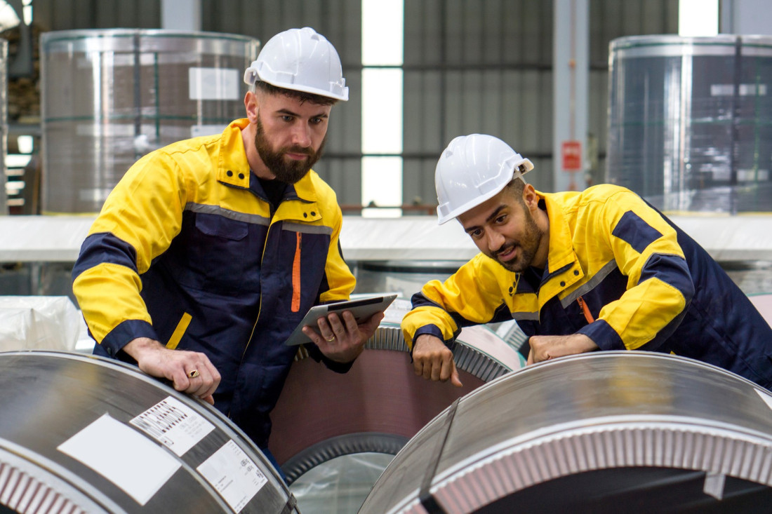
[[271,216],[246,161],[247,123],[137,161],[83,242],[73,292],[94,353],[130,360],[121,348],[143,336],[206,353],[222,375],[215,407],[265,448],[297,350],[284,341],[311,306],[347,299],[354,276],[337,198],[314,171]]

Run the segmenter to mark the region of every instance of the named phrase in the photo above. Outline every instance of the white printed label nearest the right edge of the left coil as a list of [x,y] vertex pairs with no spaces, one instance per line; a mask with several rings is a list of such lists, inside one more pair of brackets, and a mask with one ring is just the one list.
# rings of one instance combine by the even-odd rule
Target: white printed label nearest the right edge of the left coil
[[266,475],[233,440],[225,443],[196,469],[235,512],[241,512],[268,482]]

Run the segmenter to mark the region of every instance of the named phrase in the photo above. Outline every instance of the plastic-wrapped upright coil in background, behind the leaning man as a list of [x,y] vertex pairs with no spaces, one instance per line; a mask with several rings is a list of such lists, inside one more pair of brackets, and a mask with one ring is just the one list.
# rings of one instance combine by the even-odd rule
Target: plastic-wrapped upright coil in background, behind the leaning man
[[611,42],[607,180],[664,211],[772,211],[772,38]]

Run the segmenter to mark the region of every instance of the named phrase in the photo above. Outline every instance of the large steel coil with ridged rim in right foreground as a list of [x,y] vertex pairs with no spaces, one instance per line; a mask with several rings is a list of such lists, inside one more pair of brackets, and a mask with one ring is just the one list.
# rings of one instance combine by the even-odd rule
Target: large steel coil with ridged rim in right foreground
[[770,391],[683,357],[598,352],[455,401],[359,512],[768,512],[770,485]]

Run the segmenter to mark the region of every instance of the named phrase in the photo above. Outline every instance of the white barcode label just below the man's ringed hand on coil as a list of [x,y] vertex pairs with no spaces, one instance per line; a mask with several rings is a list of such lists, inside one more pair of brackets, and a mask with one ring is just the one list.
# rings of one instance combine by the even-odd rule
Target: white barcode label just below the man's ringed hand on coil
[[215,425],[191,407],[171,396],[159,401],[129,423],[174,451],[178,457],[185,455],[186,451],[215,429]]

